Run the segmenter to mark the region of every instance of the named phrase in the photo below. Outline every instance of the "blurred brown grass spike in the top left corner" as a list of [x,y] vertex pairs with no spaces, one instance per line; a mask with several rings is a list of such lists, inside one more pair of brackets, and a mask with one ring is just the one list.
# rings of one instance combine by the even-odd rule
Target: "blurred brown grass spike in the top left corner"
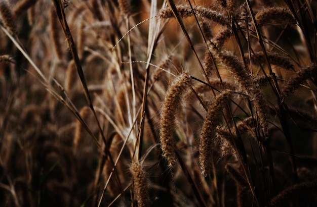
[[10,34],[16,35],[17,28],[15,19],[12,15],[11,9],[5,1],[0,2],[0,18],[4,26],[10,32]]

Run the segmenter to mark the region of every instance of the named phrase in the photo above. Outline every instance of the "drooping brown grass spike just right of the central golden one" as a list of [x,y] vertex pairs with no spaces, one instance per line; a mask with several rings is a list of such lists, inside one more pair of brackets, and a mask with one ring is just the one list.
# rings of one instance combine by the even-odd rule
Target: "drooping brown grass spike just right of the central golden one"
[[212,154],[214,148],[214,138],[216,137],[216,127],[222,109],[226,106],[231,90],[226,90],[217,95],[208,107],[207,116],[202,127],[199,143],[199,163],[202,174],[207,176],[212,167]]

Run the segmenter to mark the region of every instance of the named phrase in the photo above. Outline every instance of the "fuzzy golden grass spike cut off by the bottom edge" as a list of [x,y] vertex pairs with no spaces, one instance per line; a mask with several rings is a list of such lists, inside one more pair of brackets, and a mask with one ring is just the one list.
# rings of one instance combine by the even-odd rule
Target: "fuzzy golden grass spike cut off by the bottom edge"
[[132,161],[130,168],[133,180],[133,192],[138,201],[139,207],[146,207],[150,204],[148,186],[145,177],[145,171],[143,170],[140,161]]

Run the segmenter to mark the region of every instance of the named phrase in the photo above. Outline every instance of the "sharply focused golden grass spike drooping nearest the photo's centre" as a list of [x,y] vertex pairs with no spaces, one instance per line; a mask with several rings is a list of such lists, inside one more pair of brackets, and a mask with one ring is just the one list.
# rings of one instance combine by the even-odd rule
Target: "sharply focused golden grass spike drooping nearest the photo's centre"
[[163,103],[163,111],[160,121],[160,139],[163,156],[168,161],[170,167],[173,166],[176,158],[174,151],[175,141],[173,137],[175,114],[179,104],[181,103],[182,96],[188,85],[190,85],[190,82],[190,76],[187,73],[183,73],[177,77],[168,89]]

